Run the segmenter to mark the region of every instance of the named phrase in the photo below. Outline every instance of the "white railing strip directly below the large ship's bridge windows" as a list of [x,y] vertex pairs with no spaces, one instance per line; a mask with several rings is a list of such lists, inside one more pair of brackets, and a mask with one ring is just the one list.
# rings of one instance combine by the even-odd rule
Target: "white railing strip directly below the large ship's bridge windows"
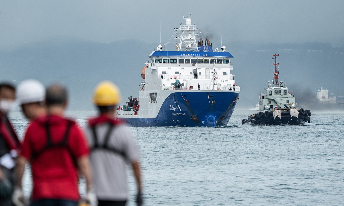
[[[192,58],[190,56],[190,58]],[[147,63],[148,67],[180,67],[180,68],[210,68],[214,67],[214,64],[181,64],[181,63]],[[233,64],[215,64],[215,69],[218,68],[229,68],[233,69]]]

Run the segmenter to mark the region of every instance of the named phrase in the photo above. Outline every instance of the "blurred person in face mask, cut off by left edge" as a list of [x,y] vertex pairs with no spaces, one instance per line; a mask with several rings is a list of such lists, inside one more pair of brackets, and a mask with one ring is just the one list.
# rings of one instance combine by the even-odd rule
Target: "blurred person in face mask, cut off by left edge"
[[11,195],[15,184],[15,158],[20,152],[20,142],[7,114],[15,100],[15,88],[0,83],[0,205],[12,205]]

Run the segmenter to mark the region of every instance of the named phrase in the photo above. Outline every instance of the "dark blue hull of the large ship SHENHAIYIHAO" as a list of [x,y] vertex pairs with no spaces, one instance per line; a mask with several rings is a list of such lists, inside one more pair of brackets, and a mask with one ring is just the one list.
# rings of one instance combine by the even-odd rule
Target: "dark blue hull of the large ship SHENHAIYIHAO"
[[165,99],[155,118],[117,117],[117,119],[132,127],[226,126],[238,97],[238,92],[192,91],[181,93],[177,90]]

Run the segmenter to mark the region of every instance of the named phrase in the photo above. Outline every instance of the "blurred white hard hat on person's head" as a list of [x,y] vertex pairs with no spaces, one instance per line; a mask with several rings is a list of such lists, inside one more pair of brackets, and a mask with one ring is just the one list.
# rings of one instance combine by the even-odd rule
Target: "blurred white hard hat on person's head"
[[26,79],[18,85],[15,95],[20,105],[42,102],[45,100],[45,88],[35,79]]

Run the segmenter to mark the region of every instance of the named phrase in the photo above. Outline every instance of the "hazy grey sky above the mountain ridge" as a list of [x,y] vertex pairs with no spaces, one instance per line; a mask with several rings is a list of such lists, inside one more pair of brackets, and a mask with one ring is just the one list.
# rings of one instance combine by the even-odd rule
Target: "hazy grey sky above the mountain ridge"
[[[159,43],[192,22],[202,34],[254,43],[330,42],[344,46],[344,1],[17,1],[0,0],[0,45],[58,36],[100,43],[136,38]],[[174,41],[175,43],[175,41]],[[174,45],[174,44],[173,44]]]

